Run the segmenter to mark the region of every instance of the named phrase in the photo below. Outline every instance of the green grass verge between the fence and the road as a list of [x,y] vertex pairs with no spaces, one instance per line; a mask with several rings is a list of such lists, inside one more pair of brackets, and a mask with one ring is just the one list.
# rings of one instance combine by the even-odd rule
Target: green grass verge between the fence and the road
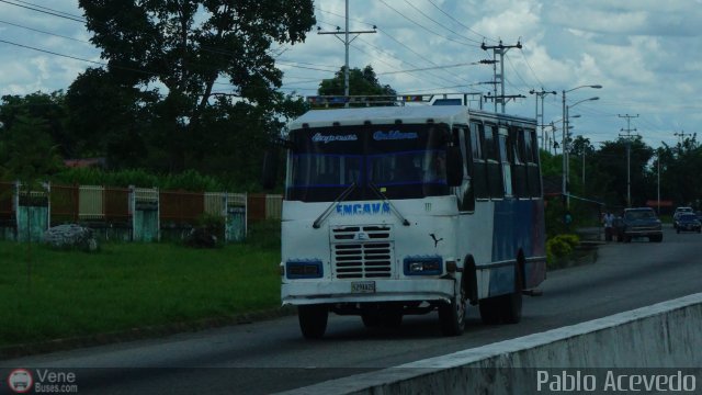
[[[280,246],[280,245],[279,245]],[[106,244],[99,252],[0,241],[0,347],[280,306],[280,249]]]

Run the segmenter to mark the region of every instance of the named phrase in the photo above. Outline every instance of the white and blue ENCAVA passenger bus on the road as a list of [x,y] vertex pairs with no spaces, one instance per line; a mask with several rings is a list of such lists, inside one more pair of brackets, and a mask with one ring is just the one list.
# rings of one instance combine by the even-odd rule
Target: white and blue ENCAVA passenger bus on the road
[[312,110],[293,121],[282,303],[306,338],[329,313],[398,326],[439,312],[463,332],[518,323],[546,276],[535,121],[463,105]]

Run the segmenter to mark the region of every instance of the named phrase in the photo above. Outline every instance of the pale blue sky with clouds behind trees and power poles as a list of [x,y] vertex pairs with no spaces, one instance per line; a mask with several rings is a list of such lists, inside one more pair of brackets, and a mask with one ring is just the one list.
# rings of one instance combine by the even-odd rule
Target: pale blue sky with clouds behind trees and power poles
[[[699,131],[702,121],[701,0],[350,0],[351,68],[371,65],[398,93],[483,92],[492,88],[495,46],[507,52],[507,112],[535,116],[531,90],[546,94],[544,120],[557,121],[567,93],[574,135],[596,144],[627,127],[658,147]],[[344,29],[344,0],[316,0],[322,32]],[[101,63],[77,0],[0,0],[0,95],[66,90]],[[339,36],[342,38],[342,36]],[[351,37],[354,37],[352,35]],[[303,44],[279,48],[285,92],[313,95],[344,61],[344,45],[316,29]],[[94,63],[90,63],[94,61]],[[420,69],[420,70],[418,70]],[[226,88],[225,88],[226,89]],[[222,90],[222,89],[220,89]],[[351,92],[353,94],[353,92]],[[599,97],[598,101],[587,101]],[[585,101],[584,101],[585,100]],[[582,101],[582,102],[581,102]],[[473,104],[474,106],[477,103]],[[485,103],[486,109],[494,104]],[[635,132],[633,129],[636,129]]]

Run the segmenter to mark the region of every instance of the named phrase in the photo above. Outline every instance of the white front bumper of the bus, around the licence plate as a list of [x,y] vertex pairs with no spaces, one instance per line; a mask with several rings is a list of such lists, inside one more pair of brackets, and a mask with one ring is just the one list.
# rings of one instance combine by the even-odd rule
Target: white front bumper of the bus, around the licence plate
[[[365,281],[360,281],[365,282]],[[375,280],[375,292],[354,293],[353,281],[298,281],[283,283],[283,305],[364,302],[445,301],[454,295],[454,279]]]

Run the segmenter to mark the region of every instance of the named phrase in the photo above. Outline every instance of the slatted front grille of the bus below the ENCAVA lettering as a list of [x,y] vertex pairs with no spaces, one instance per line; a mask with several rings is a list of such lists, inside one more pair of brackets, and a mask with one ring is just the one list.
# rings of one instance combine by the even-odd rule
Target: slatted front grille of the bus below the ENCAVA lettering
[[388,279],[393,275],[389,226],[343,226],[331,229],[337,279]]

